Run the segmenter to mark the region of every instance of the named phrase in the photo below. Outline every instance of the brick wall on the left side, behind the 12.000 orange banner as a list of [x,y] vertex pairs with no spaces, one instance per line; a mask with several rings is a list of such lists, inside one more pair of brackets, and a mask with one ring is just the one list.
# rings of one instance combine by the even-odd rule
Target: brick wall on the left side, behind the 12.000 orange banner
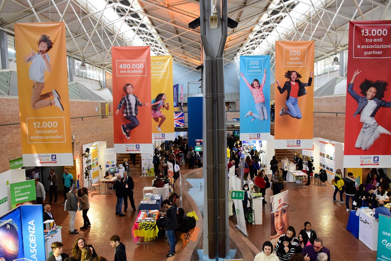
[[[98,108],[98,111],[96,111]],[[0,110],[3,112],[0,124],[20,122],[19,99],[0,99]],[[102,103],[102,114],[105,113]],[[70,101],[70,115],[72,117],[83,117],[99,115],[99,102],[91,101]],[[88,117],[82,119],[71,119],[71,134],[75,135],[74,159],[79,158],[84,151],[82,145],[94,141],[106,141],[107,147],[114,146],[113,140],[113,117]],[[22,142],[20,140],[20,124],[0,126],[0,173],[9,169],[9,160],[22,157]]]

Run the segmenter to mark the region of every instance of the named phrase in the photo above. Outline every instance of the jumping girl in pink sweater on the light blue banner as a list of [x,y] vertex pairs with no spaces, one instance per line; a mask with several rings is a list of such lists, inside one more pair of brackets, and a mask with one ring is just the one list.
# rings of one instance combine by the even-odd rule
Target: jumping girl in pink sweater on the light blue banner
[[246,83],[247,87],[250,89],[250,92],[254,97],[255,110],[258,113],[255,114],[251,111],[248,111],[248,113],[246,113],[246,116],[244,117],[247,118],[248,116],[253,116],[251,122],[253,122],[255,119],[258,119],[260,121],[266,121],[267,119],[269,119],[269,117],[265,107],[264,92],[262,91],[266,81],[266,69],[264,72],[264,78],[262,79],[262,83],[259,83],[258,79],[254,79],[253,82],[250,84],[244,77],[242,72],[240,73],[240,76],[242,76],[244,82]]

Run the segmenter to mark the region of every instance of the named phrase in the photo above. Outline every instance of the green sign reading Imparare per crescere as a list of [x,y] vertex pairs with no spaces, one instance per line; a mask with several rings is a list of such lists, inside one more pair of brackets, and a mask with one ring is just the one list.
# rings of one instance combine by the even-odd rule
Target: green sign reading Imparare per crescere
[[35,180],[26,180],[9,184],[11,189],[11,205],[36,200]]

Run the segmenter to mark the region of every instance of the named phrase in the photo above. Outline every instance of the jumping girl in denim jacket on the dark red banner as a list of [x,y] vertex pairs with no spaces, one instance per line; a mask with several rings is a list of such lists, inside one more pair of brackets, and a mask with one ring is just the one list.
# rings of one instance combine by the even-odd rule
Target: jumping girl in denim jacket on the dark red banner
[[360,84],[360,94],[362,96],[358,95],[353,90],[353,83],[360,72],[361,71],[359,70],[354,72],[352,81],[348,84],[348,93],[352,95],[353,99],[355,99],[359,104],[359,107],[353,114],[353,117],[360,114],[360,121],[362,122],[362,128],[359,137],[357,137],[355,148],[365,151],[371,148],[373,142],[380,137],[380,133],[391,135],[391,132],[378,125],[375,120],[376,112],[380,109],[380,107],[391,107],[391,102],[382,100],[388,85],[385,81],[377,80],[373,82],[365,79]]

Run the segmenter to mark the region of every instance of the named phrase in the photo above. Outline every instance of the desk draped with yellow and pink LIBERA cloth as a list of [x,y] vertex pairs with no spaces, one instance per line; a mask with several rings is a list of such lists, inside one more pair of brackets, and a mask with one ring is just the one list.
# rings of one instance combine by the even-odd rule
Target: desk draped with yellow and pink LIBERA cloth
[[[148,217],[146,212],[139,211],[136,221],[133,224],[132,228],[132,236],[135,243],[138,244],[139,238],[144,238],[144,241],[148,241],[149,238],[155,238],[158,236],[159,229],[156,226],[156,220],[159,218],[159,211],[156,211],[156,217],[153,222],[140,222],[137,223],[137,219],[142,216],[142,220]],[[146,240],[145,240],[146,238]]]

